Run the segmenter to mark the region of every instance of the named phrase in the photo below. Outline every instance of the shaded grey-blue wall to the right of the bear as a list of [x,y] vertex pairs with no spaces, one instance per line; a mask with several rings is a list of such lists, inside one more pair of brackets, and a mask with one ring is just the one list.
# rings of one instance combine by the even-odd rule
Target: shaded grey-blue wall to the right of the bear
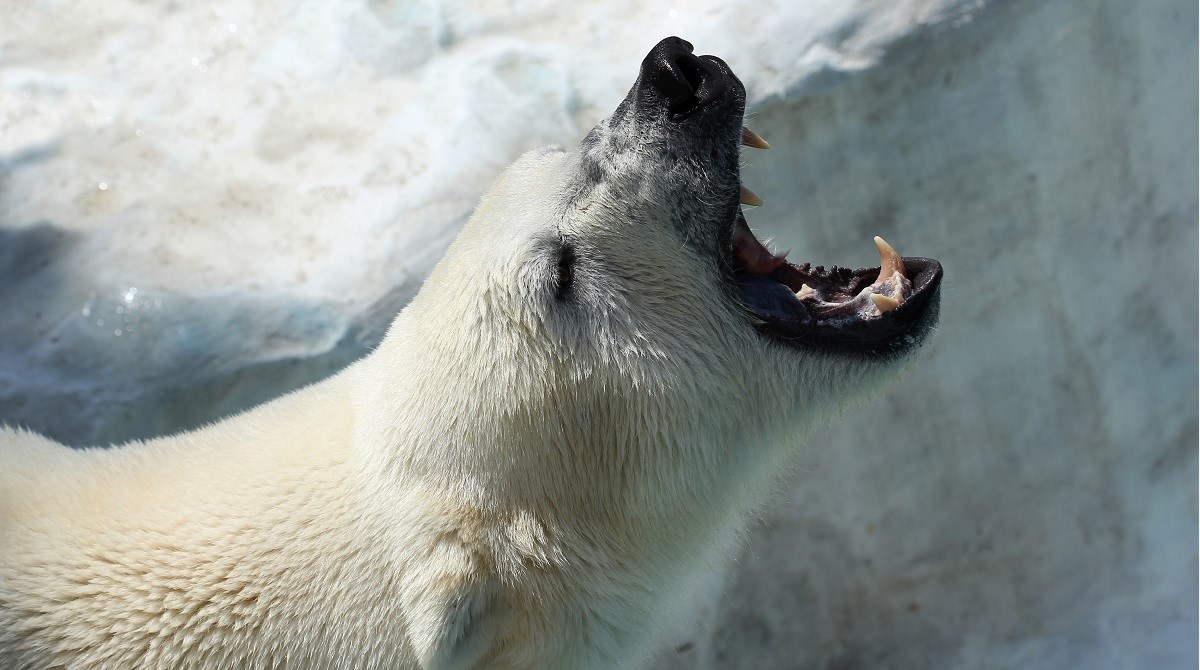
[[805,448],[661,668],[1195,666],[1195,25],[997,2],[757,106],[750,221],[943,259],[942,327]]

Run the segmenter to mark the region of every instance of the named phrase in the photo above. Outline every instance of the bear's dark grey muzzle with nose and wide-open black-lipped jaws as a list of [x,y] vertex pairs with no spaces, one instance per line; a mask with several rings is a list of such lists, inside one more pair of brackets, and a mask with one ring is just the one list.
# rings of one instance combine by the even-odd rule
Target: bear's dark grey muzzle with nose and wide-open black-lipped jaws
[[740,151],[768,145],[743,125],[745,97],[724,60],[694,54],[679,37],[662,40],[612,116],[581,143],[584,177],[575,191],[606,184],[616,193],[610,199],[667,213],[684,245],[715,262],[731,299],[767,337],[856,355],[919,345],[937,322],[937,261],[904,258],[875,238],[877,268],[826,269],[791,263],[751,233],[743,208],[762,199],[742,184]]

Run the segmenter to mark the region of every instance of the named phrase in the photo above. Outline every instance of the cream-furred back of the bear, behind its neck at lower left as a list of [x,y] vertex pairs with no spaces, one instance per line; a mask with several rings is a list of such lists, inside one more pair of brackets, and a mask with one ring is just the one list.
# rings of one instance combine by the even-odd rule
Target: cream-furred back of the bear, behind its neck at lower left
[[0,431],[0,666],[319,668],[370,639],[348,383],[109,449]]

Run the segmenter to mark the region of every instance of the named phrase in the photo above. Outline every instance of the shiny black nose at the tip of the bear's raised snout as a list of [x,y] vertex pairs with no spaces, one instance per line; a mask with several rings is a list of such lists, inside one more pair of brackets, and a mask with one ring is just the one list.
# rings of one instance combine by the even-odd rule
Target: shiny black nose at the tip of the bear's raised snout
[[692,47],[679,37],[659,42],[642,60],[640,91],[659,98],[671,119],[679,120],[704,103],[724,95],[733,73],[721,59],[692,55]]

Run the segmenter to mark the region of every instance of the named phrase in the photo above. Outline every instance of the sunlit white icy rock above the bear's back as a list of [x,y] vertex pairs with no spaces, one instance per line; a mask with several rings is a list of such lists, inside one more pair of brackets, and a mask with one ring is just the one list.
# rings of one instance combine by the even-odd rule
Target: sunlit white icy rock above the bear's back
[[0,232],[20,261],[0,415],[120,441],[344,364],[497,172],[577,142],[666,34],[738,54],[762,98],[971,7],[23,5],[0,26]]

